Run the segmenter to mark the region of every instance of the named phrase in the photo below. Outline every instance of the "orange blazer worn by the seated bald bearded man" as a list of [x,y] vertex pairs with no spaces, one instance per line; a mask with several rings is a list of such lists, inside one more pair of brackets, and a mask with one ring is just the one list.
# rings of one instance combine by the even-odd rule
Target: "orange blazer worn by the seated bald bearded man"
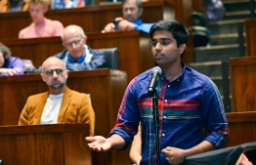
[[[19,119],[19,125],[37,125],[41,119],[49,92],[28,97]],[[87,94],[65,88],[64,98],[58,116],[61,123],[86,123],[90,126],[90,136],[94,136],[95,112]]]

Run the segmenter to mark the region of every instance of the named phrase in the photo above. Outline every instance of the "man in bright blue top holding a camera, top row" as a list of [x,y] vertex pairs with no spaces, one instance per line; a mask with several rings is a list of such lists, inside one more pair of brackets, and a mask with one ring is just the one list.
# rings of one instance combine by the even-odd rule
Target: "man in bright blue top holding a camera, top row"
[[122,13],[123,18],[116,18],[113,22],[107,23],[105,32],[141,30],[149,33],[149,28],[154,24],[144,23],[140,19],[143,14],[141,0],[122,0]]

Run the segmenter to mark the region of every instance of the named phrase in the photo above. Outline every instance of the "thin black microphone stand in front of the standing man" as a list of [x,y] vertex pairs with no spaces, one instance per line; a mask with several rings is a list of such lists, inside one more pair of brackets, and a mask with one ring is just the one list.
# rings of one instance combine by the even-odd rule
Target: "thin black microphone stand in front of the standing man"
[[159,111],[158,111],[158,99],[156,90],[153,90],[153,97],[152,97],[152,103],[153,103],[153,121],[154,121],[154,128],[155,128],[155,142],[156,142],[156,162],[157,165],[160,165],[160,144],[159,144]]

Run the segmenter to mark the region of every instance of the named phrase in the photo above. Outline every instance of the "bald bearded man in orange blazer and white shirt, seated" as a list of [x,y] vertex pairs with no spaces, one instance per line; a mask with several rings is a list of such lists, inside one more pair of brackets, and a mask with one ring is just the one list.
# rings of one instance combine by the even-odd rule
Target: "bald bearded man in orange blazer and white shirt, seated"
[[66,87],[68,70],[55,57],[43,62],[42,80],[49,92],[28,97],[19,119],[19,125],[87,123],[94,135],[95,112],[87,94]]

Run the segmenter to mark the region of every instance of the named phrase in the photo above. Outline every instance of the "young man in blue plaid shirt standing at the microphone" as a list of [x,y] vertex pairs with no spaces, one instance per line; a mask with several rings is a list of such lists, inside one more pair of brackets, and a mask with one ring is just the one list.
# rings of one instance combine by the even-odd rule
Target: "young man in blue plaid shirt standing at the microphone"
[[[162,73],[156,84],[159,111],[160,164],[180,164],[185,156],[223,147],[229,137],[221,95],[213,81],[182,62],[189,32],[179,21],[159,21],[149,30],[151,52]],[[152,98],[148,95],[152,69],[127,87],[116,125],[106,139],[87,137],[98,151],[125,149],[142,125],[140,165],[156,164]],[[203,139],[203,133],[207,133]]]

